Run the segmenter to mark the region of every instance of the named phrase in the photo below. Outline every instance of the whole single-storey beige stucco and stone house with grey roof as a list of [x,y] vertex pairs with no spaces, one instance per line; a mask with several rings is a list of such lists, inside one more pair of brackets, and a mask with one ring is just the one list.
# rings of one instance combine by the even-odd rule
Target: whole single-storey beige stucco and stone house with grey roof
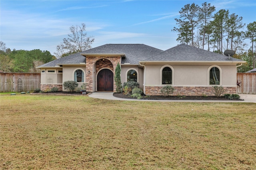
[[[56,59],[38,66],[41,90],[74,80],[88,83],[87,91],[116,92],[116,65],[121,65],[121,81],[140,83],[145,95],[162,95],[163,86],[172,85],[174,95],[212,95],[212,86],[222,86],[235,94],[236,68],[245,61],[185,44],[166,51],[144,44],[106,44]],[[240,65],[238,65],[240,64]]]

